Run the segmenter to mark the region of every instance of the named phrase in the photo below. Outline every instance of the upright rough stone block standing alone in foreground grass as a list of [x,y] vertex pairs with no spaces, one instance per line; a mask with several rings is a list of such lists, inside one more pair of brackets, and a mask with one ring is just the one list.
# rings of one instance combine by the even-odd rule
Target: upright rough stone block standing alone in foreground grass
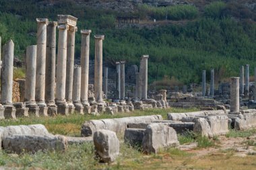
[[93,136],[96,155],[100,161],[109,163],[119,155],[119,140],[117,134],[110,130],[97,130]]

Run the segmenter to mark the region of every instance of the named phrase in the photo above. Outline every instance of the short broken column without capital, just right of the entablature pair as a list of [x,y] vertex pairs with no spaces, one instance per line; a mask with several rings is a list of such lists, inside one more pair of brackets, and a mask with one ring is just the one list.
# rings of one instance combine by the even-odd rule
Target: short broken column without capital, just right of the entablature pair
[[75,105],[75,111],[79,114],[84,114],[84,106],[82,105],[81,98],[81,67],[75,65],[73,71],[73,103]]

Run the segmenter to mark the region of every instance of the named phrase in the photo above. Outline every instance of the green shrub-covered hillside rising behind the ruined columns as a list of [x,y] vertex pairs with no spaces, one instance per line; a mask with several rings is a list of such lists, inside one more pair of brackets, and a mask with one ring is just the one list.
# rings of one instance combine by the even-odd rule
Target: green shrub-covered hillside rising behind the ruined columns
[[[139,65],[142,54],[149,54],[149,81],[175,77],[183,83],[199,83],[201,70],[216,69],[217,81],[237,76],[240,65],[256,67],[256,9],[237,3],[212,2],[203,7],[175,5],[149,7],[139,5],[131,13],[94,9],[61,1],[49,5],[43,1],[0,1],[2,44],[15,42],[15,55],[22,58],[26,46],[36,44],[36,17],[56,20],[57,14],[78,18],[75,57],[80,56],[79,30],[92,30],[90,57],[94,57],[94,34],[104,34],[104,62],[113,65],[125,59]],[[153,29],[115,28],[117,16],[139,16],[165,20]],[[171,22],[175,21],[175,22]],[[183,21],[183,22],[181,22]],[[180,22],[182,24],[180,24]],[[177,24],[175,24],[177,23]],[[157,73],[158,67],[158,73]],[[210,77],[210,76],[209,76]]]

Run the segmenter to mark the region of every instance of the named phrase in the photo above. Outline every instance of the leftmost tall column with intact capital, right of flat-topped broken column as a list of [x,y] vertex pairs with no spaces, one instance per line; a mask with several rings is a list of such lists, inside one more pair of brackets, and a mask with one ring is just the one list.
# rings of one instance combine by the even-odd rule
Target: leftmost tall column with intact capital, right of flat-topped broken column
[[45,94],[45,65],[46,65],[46,28],[48,19],[37,18],[37,36],[36,36],[36,102],[40,108],[39,114],[47,116]]

